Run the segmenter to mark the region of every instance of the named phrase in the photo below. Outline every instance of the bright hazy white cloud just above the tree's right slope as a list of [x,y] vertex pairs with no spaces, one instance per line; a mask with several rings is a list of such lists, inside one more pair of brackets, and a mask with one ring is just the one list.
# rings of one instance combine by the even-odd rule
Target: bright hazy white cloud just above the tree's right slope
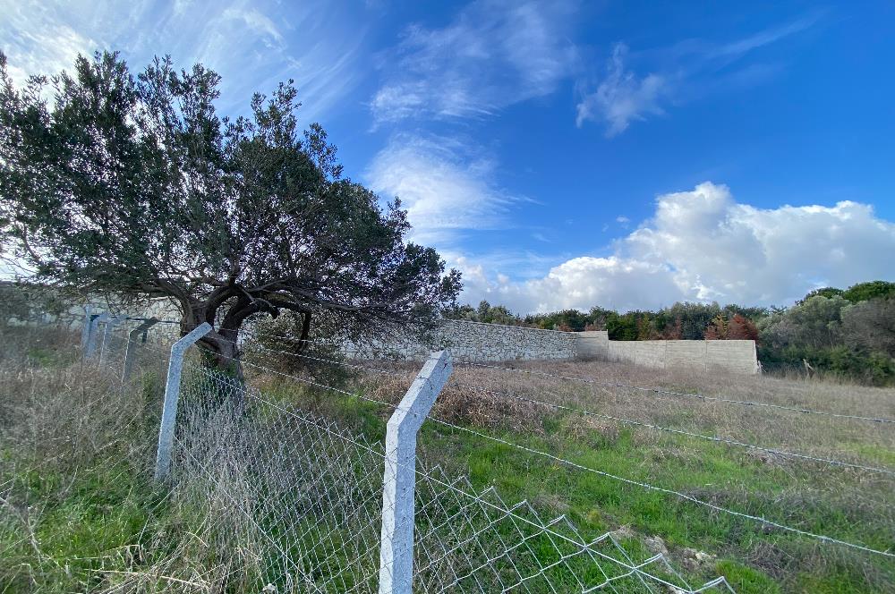
[[504,225],[514,198],[491,181],[493,167],[459,140],[399,134],[364,177],[384,198],[402,200],[414,242],[447,246],[464,230]]

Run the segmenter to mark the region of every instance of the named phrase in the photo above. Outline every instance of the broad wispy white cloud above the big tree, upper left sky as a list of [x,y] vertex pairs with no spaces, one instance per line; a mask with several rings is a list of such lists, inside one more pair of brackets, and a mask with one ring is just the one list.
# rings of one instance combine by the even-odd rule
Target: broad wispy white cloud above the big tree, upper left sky
[[[323,2],[281,5],[229,0],[22,3],[0,0],[0,39],[16,81],[71,70],[80,53],[120,50],[134,68],[170,54],[188,68],[201,62],[223,77],[221,108],[245,111],[254,91],[294,79],[301,117],[324,118],[360,79],[364,29]],[[315,31],[308,36],[302,31]]]

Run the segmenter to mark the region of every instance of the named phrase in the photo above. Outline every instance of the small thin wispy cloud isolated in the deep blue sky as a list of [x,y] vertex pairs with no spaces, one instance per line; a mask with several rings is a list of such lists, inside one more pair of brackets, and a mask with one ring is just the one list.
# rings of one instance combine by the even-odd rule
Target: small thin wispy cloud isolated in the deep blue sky
[[577,106],[578,126],[586,120],[604,120],[609,124],[606,135],[611,137],[624,132],[632,120],[664,113],[660,101],[668,92],[666,79],[654,73],[638,79],[634,72],[625,69],[626,54],[625,44],[613,47],[606,78]]

